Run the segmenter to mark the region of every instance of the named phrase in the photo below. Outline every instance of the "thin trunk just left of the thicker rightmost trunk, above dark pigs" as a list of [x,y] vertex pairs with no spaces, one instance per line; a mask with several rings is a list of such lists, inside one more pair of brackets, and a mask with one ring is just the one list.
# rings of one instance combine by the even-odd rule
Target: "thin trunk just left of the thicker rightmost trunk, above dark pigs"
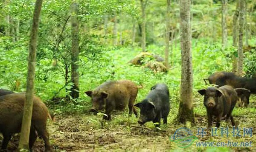
[[[233,15],[233,47],[237,48],[237,19],[239,16],[239,6],[238,2],[236,3],[236,11]],[[236,73],[237,72],[237,57],[233,53],[232,55],[232,60],[233,60],[233,66],[232,66],[232,72]]]

